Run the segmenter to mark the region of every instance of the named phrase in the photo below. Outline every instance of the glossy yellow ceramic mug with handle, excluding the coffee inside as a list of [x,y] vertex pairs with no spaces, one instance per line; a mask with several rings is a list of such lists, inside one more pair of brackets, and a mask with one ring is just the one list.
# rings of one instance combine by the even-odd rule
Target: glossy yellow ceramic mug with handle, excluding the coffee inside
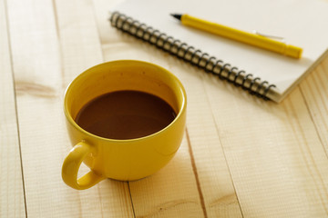
[[[87,102],[120,90],[155,94],[169,103],[177,116],[155,134],[128,140],[103,138],[77,125],[77,113]],[[67,129],[74,146],[63,163],[64,182],[81,190],[105,178],[133,181],[159,171],[179,149],[186,123],[186,100],[186,92],[177,77],[156,64],[113,61],[78,75],[65,94]],[[77,178],[82,161],[90,171]]]

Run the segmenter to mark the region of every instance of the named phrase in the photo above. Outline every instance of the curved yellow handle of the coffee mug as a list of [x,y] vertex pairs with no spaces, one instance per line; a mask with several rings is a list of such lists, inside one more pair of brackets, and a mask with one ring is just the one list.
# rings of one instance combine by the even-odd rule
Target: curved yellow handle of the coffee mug
[[86,142],[80,142],[67,154],[62,167],[62,178],[68,186],[77,190],[83,190],[105,179],[105,177],[98,175],[92,170],[77,179],[77,172],[83,159],[93,150],[94,148]]

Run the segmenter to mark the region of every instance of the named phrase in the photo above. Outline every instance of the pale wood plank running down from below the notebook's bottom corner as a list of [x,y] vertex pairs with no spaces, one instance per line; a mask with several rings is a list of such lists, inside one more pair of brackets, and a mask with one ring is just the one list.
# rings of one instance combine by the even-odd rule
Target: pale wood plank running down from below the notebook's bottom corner
[[245,217],[327,215],[328,160],[299,88],[282,104],[207,82]]

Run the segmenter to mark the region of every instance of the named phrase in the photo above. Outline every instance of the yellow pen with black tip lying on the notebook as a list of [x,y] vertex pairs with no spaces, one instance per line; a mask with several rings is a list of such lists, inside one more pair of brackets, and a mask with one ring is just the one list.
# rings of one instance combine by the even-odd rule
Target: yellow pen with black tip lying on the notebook
[[241,43],[261,47],[263,49],[291,56],[293,58],[301,58],[302,56],[302,48],[293,45],[287,45],[283,42],[273,40],[263,35],[250,34],[225,25],[219,25],[209,21],[201,20],[200,18],[190,15],[172,14],[172,16],[177,18],[182,25],[191,26],[211,34],[224,36]]

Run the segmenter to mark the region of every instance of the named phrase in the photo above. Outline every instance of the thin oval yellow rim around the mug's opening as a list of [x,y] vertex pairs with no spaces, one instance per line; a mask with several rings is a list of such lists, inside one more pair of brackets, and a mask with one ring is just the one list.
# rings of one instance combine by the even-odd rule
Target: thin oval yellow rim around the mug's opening
[[[152,65],[154,67],[159,68],[161,71],[165,72],[166,74],[169,74],[170,77],[173,78],[173,80],[179,84],[179,91],[181,93],[182,96],[182,103],[179,109],[179,113],[177,114],[177,116],[174,118],[174,120],[168,124],[167,126],[165,126],[163,129],[159,130],[158,132],[154,133],[154,134],[148,134],[142,137],[138,137],[138,138],[132,138],[132,139],[111,139],[111,138],[106,138],[106,137],[102,137],[99,136],[97,134],[91,134],[89,132],[87,132],[86,130],[84,130],[82,127],[80,127],[75,120],[73,119],[73,117],[71,116],[71,114],[68,112],[68,107],[67,107],[67,94],[69,94],[70,89],[72,88],[72,86],[77,83],[77,81],[83,77],[85,74],[87,74],[88,72],[90,72],[90,70],[99,67],[100,65],[104,65],[104,64],[112,64],[112,63],[138,63],[138,64],[149,64]],[[164,67],[158,65],[158,64],[153,64],[153,63],[149,63],[149,62],[145,62],[145,61],[138,61],[138,60],[117,60],[117,61],[108,61],[108,62],[104,62],[101,64],[96,64],[92,67],[87,68],[87,70],[83,71],[81,74],[78,74],[77,77],[75,77],[75,79],[73,79],[68,85],[67,85],[67,89],[65,91],[64,94],[64,114],[66,115],[67,121],[72,124],[72,126],[74,126],[78,131],[82,132],[83,134],[87,134],[90,137],[93,138],[97,138],[99,140],[104,140],[107,142],[120,142],[120,143],[128,143],[128,142],[132,142],[132,141],[139,141],[139,140],[144,140],[147,138],[151,138],[154,137],[155,135],[158,135],[162,132],[164,132],[166,129],[168,129],[171,125],[177,123],[177,121],[179,120],[179,117],[185,112],[186,110],[186,104],[187,104],[187,94],[186,94],[186,90],[184,88],[184,86],[182,85],[182,83],[179,81],[178,77],[175,74],[172,74],[171,72],[169,72],[169,70],[165,69]]]

